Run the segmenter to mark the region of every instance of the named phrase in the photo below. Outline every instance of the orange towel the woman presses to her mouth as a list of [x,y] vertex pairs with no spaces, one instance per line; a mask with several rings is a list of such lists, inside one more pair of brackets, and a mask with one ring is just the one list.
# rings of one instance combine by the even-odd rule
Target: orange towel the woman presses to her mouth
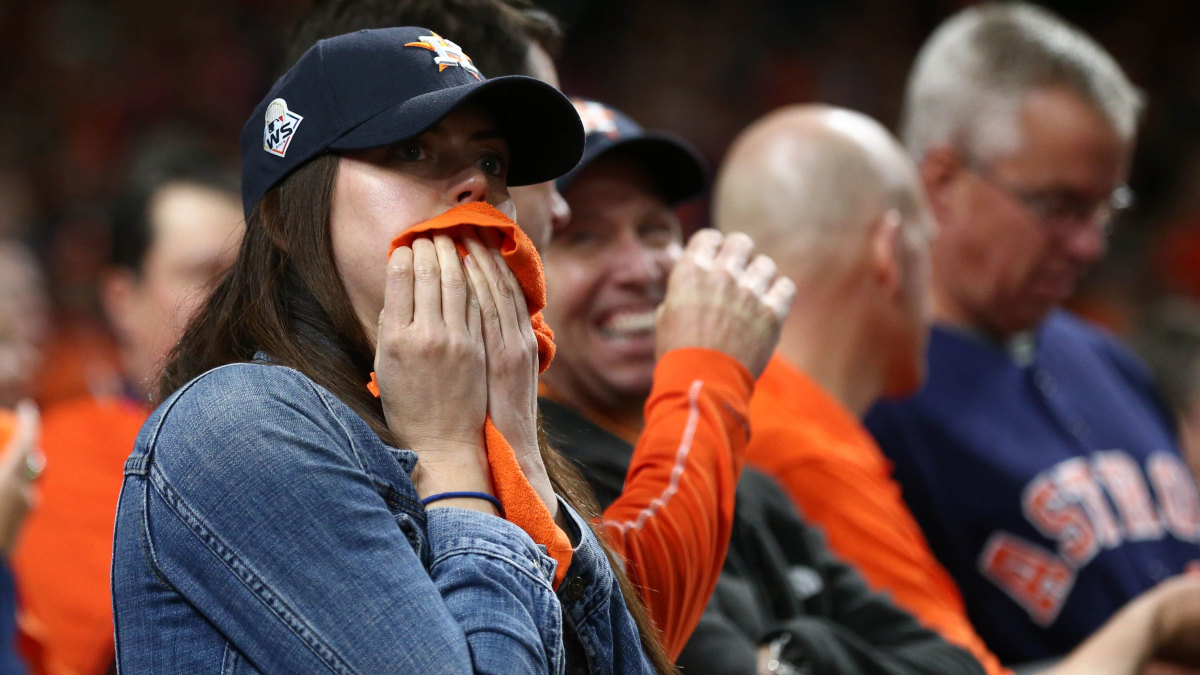
[[[466,255],[467,249],[461,240],[469,232],[468,228],[475,227],[491,227],[502,235],[500,255],[524,291],[533,331],[538,336],[539,370],[545,371],[550,360],[554,358],[554,333],[541,316],[541,310],[546,306],[546,279],[541,269],[541,258],[538,257],[529,237],[506,215],[486,202],[455,207],[432,220],[413,226],[394,239],[391,247],[388,249],[388,256],[391,257],[391,252],[400,246],[410,245],[416,235],[430,232],[440,232],[455,238],[458,252]],[[379,395],[373,372],[367,388],[376,396]],[[504,518],[528,532],[535,543],[545,545],[550,556],[558,561],[558,569],[554,571],[554,587],[558,587],[566,574],[566,568],[571,565],[574,551],[570,538],[554,524],[550,509],[526,479],[512,447],[492,424],[491,416],[484,424],[484,443],[487,448],[487,464],[492,470],[492,489],[504,504]]]

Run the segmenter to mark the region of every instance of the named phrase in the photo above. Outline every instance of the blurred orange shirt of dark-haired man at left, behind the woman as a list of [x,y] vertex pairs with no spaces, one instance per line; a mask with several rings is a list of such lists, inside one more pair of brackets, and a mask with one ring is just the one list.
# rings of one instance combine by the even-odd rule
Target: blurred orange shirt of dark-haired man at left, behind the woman
[[12,562],[23,611],[42,627],[48,673],[112,668],[113,522],[125,459],[148,414],[124,399],[86,396],[42,416],[46,472]]

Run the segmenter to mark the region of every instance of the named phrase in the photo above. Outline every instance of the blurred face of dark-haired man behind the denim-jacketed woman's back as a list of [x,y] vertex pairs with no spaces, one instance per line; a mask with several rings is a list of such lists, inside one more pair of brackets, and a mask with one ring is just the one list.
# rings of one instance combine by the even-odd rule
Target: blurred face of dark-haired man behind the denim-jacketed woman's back
[[245,231],[238,195],[191,183],[164,185],[146,211],[151,234],[140,271],[120,268],[104,280],[125,375],[139,394],[233,263]]

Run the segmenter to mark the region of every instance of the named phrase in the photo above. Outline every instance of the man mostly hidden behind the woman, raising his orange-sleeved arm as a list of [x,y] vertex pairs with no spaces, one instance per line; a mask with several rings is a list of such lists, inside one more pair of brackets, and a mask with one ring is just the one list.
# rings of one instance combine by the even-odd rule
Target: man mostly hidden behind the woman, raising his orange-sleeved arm
[[[460,47],[475,56],[474,62],[485,73],[529,74],[558,84],[550,54],[557,48],[559,26],[552,17],[520,0],[319,2],[298,25],[287,61],[323,36],[418,22],[455,35],[462,41]],[[570,219],[556,183],[516,186],[511,195],[522,229],[544,251],[553,232]],[[733,277],[706,270],[697,271],[692,281],[715,288]],[[642,590],[671,658],[679,653],[700,620],[728,545],[733,488],[743,464],[744,418],[751,392],[746,365],[739,365],[739,359],[746,358],[739,354],[775,339],[769,330],[743,335],[740,325],[730,321],[734,316],[730,312],[755,306],[764,311],[762,300],[752,294],[719,303],[697,301],[700,298],[691,288],[677,285],[673,297],[678,300],[673,304],[673,316],[680,325],[695,323],[710,325],[712,330],[677,330],[660,341],[660,348],[670,351],[707,340],[709,347],[725,354],[696,363],[691,360],[695,351],[684,350],[667,359],[671,372],[661,376],[662,405],[642,434],[634,461],[638,479],[607,504],[601,519],[612,546],[625,561],[626,573]],[[775,301],[782,303],[779,298]],[[569,350],[559,350],[556,356],[559,360],[575,358],[577,354]],[[709,378],[708,386],[692,393],[692,377],[702,374]],[[689,419],[691,426],[686,424]],[[680,456],[682,438],[690,440],[691,449]],[[637,519],[648,504],[655,503],[664,485],[678,496],[654,507],[658,518],[643,519],[638,527],[619,526]]]

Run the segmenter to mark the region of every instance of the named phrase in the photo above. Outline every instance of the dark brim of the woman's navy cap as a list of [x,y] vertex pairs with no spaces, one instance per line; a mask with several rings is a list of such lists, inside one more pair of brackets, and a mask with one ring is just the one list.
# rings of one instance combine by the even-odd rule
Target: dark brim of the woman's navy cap
[[487,112],[509,145],[509,185],[553,180],[578,163],[583,125],[575,106],[532,77],[505,76],[422,94],[388,108],[329,144],[332,150],[390,145],[424,133],[458,106]]

